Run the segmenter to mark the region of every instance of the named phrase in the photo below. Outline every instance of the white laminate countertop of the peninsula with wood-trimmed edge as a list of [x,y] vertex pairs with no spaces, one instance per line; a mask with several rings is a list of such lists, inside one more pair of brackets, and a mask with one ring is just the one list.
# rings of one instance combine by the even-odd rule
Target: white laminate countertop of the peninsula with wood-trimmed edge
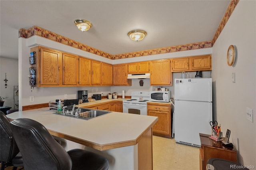
[[152,128],[158,120],[158,117],[153,116],[111,112],[87,121],[53,112],[56,111],[47,107],[18,111],[6,116],[12,120],[33,119],[44,125],[53,135],[98,150],[135,145],[140,140],[140,136]]

